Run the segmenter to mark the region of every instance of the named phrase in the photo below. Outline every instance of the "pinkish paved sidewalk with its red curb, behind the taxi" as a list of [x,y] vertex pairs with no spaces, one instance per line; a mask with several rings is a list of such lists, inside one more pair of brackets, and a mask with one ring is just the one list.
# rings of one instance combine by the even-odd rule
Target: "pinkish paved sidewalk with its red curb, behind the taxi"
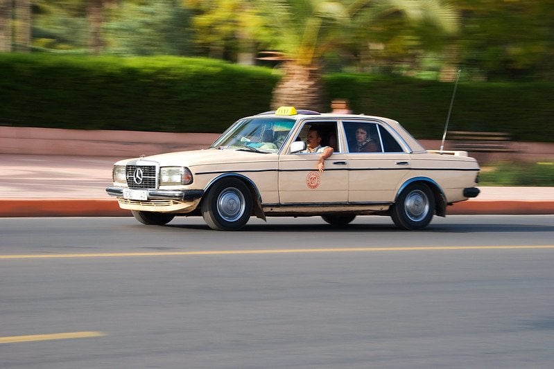
[[[130,216],[109,197],[123,156],[0,154],[0,217]],[[480,187],[447,214],[554,214],[552,187]]]

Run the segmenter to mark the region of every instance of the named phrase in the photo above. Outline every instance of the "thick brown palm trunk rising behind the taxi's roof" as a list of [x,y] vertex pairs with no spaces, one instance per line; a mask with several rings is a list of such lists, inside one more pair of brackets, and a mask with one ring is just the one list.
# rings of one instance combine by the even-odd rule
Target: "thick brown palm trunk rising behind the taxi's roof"
[[297,109],[329,111],[320,69],[286,62],[284,71],[284,77],[273,89],[272,109],[293,106]]

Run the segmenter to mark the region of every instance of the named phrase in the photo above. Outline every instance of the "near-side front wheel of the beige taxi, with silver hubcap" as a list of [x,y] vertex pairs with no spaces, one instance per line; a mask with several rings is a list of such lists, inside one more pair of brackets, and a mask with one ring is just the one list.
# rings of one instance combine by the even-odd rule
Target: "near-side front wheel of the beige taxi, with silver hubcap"
[[220,179],[202,199],[201,208],[202,217],[210,228],[238,231],[252,215],[252,194],[240,179]]

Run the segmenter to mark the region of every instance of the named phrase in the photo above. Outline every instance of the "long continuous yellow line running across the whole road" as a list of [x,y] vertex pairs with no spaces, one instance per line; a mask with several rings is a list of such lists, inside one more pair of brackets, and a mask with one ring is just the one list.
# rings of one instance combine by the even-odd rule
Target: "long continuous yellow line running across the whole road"
[[0,260],[10,259],[70,259],[70,258],[135,258],[145,256],[193,256],[193,255],[248,255],[274,253],[344,253],[375,251],[454,251],[454,250],[532,250],[554,249],[554,245],[537,246],[409,246],[409,247],[343,247],[330,249],[266,249],[266,250],[212,250],[212,251],[155,251],[128,253],[49,253],[28,255],[0,255]]

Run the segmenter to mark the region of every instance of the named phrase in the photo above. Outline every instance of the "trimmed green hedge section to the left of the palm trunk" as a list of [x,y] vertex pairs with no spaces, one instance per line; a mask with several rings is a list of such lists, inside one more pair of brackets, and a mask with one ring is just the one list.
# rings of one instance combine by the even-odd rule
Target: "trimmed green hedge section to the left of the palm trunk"
[[222,132],[268,110],[270,69],[182,57],[0,55],[0,124]]

